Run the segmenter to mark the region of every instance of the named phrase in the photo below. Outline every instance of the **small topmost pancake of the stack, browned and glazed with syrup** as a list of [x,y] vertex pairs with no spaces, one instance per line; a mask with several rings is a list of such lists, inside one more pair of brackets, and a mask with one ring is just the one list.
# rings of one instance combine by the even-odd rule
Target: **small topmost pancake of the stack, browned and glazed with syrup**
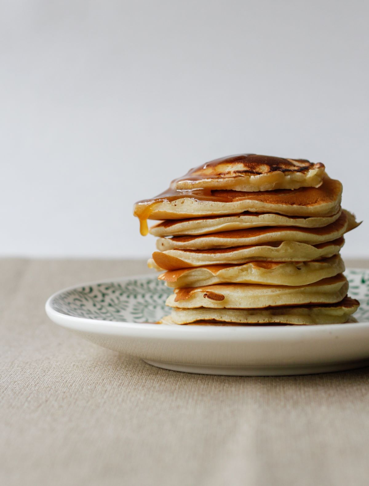
[[232,189],[270,191],[319,187],[324,165],[304,159],[256,154],[227,156],[191,169],[171,183],[173,189]]

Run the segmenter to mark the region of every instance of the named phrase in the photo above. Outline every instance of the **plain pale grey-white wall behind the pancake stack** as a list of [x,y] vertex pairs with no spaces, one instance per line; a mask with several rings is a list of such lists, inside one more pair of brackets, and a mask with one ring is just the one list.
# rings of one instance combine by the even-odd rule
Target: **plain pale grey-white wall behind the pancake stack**
[[133,203],[242,152],[325,163],[367,221],[369,2],[0,4],[0,254],[148,256]]

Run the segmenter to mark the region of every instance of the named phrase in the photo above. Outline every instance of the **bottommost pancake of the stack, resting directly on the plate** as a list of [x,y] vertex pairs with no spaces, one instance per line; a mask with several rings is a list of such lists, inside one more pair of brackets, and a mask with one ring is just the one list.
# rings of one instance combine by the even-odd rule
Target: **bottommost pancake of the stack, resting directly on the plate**
[[342,324],[355,319],[359,302],[345,297],[335,304],[268,307],[268,309],[173,309],[161,324],[193,324],[198,326],[244,324]]

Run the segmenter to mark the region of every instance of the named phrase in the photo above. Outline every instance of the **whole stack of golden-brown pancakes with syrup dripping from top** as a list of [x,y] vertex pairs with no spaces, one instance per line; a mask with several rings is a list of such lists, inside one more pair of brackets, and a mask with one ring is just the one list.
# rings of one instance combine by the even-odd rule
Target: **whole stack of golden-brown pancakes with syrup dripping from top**
[[341,208],[342,184],[308,160],[224,157],[135,204],[158,237],[149,266],[172,287],[168,324],[332,324],[347,322],[339,251],[358,226]]

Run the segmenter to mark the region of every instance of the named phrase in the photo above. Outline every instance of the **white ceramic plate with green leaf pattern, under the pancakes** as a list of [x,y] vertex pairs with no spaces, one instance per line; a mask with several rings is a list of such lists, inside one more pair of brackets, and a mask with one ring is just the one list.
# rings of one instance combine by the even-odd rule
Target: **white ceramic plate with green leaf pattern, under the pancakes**
[[[294,375],[369,364],[369,270],[348,270],[361,306],[352,324],[168,326],[172,290],[155,275],[62,290],[46,303],[50,319],[108,349],[176,371],[217,375]],[[170,310],[169,310],[170,311]]]

